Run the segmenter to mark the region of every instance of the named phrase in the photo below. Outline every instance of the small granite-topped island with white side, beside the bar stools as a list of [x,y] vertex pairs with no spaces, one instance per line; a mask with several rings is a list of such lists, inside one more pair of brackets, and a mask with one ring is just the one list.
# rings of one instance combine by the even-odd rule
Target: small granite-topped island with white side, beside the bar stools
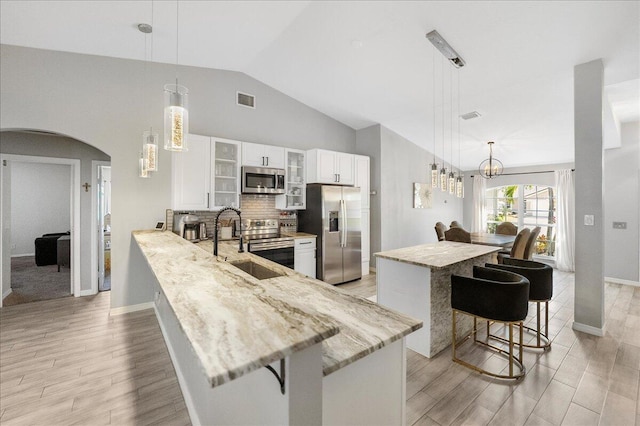
[[[451,344],[451,275],[472,276],[473,266],[491,262],[498,250],[440,241],[374,254],[378,303],[424,324],[407,337],[408,348],[432,357]],[[469,317],[458,321],[460,335],[471,330]]]

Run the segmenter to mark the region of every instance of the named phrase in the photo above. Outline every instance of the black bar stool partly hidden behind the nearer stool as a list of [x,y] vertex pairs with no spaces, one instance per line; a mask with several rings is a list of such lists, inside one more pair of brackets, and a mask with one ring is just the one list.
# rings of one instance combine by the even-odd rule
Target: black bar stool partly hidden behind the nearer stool
[[[549,300],[553,297],[553,268],[544,263],[534,262],[532,260],[522,260],[505,258],[503,264],[489,264],[485,266],[493,269],[514,272],[526,277],[530,282],[529,301],[535,302],[537,307],[537,327],[532,329],[525,326],[525,330],[535,333],[535,345],[523,345],[527,348],[534,349],[551,349],[551,341],[549,340]],[[540,304],[544,302],[544,333],[540,328]],[[489,325],[487,325],[487,333],[489,333]],[[498,336],[492,336],[499,340],[504,340]]]

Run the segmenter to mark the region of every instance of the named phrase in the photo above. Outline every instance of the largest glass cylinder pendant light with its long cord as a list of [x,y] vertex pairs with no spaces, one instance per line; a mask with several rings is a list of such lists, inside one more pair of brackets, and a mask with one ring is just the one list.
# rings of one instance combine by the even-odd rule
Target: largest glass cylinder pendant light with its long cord
[[189,90],[178,84],[179,4],[176,0],[176,84],[164,86],[164,149],[187,151]]

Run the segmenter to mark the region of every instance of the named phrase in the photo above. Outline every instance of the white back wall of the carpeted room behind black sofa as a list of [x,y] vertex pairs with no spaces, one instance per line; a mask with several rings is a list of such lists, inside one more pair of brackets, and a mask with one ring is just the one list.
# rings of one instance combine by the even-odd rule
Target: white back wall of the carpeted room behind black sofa
[[19,163],[11,167],[11,255],[34,255],[42,234],[71,230],[71,166]]

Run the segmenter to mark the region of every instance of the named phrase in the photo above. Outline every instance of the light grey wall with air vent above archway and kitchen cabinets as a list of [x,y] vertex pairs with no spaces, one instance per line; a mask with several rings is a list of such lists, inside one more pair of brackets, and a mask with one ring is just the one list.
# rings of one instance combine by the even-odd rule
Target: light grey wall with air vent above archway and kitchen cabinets
[[[143,61],[0,45],[0,130],[55,132],[111,156],[113,308],[152,300],[150,286],[137,279],[140,265],[129,261],[131,231],[152,227],[171,202],[170,153],[161,150],[151,179],[137,177],[137,159],[142,132],[163,128],[162,88],[176,69],[146,68]],[[353,129],[245,74],[180,67],[179,75],[190,91],[192,133],[354,152]],[[255,95],[258,107],[237,106],[236,91]]]

